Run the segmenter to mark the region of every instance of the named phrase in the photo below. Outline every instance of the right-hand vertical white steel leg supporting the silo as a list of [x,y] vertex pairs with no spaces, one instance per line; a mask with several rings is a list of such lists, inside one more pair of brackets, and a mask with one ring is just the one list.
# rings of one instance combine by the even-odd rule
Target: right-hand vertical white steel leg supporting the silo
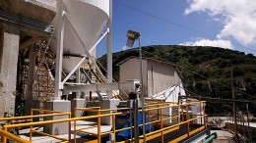
[[[107,26],[109,32],[107,34],[107,83],[112,82],[112,0],[109,0],[109,19]],[[107,90],[107,98],[112,98],[112,90]]]

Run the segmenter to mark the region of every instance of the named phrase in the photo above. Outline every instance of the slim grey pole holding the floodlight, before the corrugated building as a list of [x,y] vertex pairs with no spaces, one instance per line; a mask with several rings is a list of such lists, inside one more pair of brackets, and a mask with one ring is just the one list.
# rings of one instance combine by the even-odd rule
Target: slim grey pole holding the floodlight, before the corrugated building
[[144,97],[144,83],[143,83],[143,64],[142,64],[142,47],[141,47],[141,33],[139,36],[139,53],[140,53],[140,68],[141,68],[141,93],[142,93],[142,128],[143,128],[143,141],[146,142],[146,127],[145,127],[145,97]]

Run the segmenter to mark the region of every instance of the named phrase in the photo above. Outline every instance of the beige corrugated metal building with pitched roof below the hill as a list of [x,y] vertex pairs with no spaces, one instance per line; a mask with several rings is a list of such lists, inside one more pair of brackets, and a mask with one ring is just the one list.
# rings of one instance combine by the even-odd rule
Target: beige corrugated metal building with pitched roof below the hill
[[[117,65],[120,70],[120,81],[140,79],[140,59],[138,57],[129,57]],[[173,85],[180,84],[181,78],[173,64],[144,58],[143,83],[145,95],[151,97]]]

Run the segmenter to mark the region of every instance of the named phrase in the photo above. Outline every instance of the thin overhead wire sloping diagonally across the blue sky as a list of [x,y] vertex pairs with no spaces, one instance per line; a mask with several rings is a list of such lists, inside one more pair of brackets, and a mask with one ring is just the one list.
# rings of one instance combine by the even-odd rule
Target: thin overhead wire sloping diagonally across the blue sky
[[[147,16],[150,16],[150,17],[152,17],[152,18],[154,18],[154,19],[157,19],[157,20],[160,20],[160,21],[162,21],[162,22],[165,22],[165,23],[168,23],[168,24],[173,24],[173,25],[175,25],[175,26],[179,26],[179,27],[181,27],[181,28],[185,28],[185,29],[187,29],[187,30],[190,30],[190,31],[193,31],[193,32],[196,32],[196,33],[199,33],[199,34],[202,34],[202,35],[205,35],[205,36],[208,36],[208,37],[211,37],[211,38],[216,39],[216,36],[214,36],[214,35],[207,34],[207,33],[205,33],[205,32],[196,30],[196,29],[191,28],[191,27],[188,27],[188,26],[186,26],[186,25],[182,25],[182,24],[177,24],[177,23],[171,22],[171,21],[169,21],[169,20],[160,18],[159,16],[150,14],[150,13],[148,13],[148,12],[145,12],[145,11],[142,11],[142,10],[139,10],[139,9],[136,9],[136,8],[133,8],[133,7],[128,6],[128,5],[126,5],[126,4],[123,4],[123,3],[120,3],[120,2],[116,2],[116,1],[114,1],[113,3],[115,3],[115,4],[117,4],[117,5],[120,5],[120,6],[123,6],[123,7],[125,7],[125,8],[128,8],[128,9],[130,9],[130,10],[136,11],[136,12],[138,12],[138,13],[141,13],[141,14],[144,14],[144,15],[147,15]],[[231,42],[231,41],[230,41],[230,42]],[[251,51],[256,52],[256,49],[248,48],[248,47],[242,46],[242,45],[237,44],[237,43],[234,43],[234,42],[231,42],[231,43],[232,43],[233,45],[237,46],[237,47],[244,48],[244,49],[248,49],[248,50],[251,50]]]

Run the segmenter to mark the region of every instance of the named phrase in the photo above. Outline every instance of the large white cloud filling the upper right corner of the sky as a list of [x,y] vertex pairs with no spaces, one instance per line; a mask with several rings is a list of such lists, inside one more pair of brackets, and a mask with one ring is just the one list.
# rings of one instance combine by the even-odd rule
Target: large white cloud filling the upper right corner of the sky
[[194,12],[206,12],[224,24],[217,38],[233,37],[243,45],[256,42],[256,0],[189,0],[185,15]]

